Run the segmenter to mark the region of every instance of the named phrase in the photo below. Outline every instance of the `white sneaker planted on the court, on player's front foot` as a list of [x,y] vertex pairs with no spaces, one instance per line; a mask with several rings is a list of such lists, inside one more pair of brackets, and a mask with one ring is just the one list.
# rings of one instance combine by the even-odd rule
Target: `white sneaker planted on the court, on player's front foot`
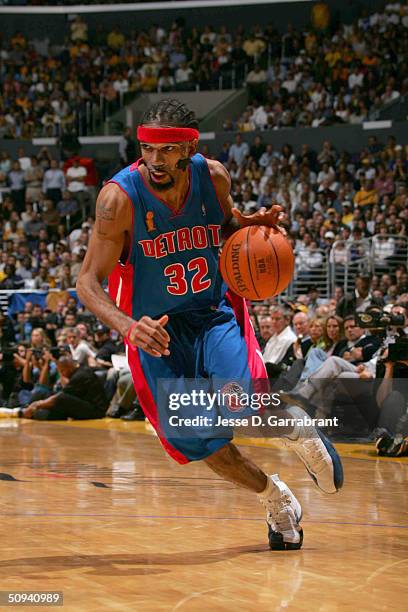
[[278,474],[268,476],[268,485],[259,500],[267,510],[271,550],[299,549],[303,542],[303,530],[299,525],[302,507]]

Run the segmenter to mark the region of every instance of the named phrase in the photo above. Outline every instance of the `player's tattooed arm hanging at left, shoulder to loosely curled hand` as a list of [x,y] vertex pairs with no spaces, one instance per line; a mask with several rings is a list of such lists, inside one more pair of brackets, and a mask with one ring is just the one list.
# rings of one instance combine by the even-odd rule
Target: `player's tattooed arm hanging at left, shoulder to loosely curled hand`
[[144,316],[134,321],[117,308],[102,288],[124,252],[132,228],[132,211],[127,196],[114,183],[106,185],[96,202],[96,222],[77,280],[78,297],[100,321],[147,353],[168,355],[168,317],[158,321]]

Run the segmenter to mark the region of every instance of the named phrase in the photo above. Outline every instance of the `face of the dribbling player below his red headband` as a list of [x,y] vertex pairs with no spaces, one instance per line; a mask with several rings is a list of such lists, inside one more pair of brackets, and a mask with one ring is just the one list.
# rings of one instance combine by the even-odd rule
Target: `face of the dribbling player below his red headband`
[[140,149],[153,189],[167,191],[174,187],[177,177],[183,172],[177,168],[177,163],[180,159],[188,157],[188,144],[142,142]]

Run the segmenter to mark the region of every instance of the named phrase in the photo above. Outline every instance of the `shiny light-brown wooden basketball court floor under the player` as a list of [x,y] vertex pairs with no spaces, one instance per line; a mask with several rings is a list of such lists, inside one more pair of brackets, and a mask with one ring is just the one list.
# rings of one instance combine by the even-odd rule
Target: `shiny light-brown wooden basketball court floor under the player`
[[303,505],[302,550],[271,552],[256,497],[177,465],[144,423],[2,419],[0,435],[3,591],[89,612],[406,605],[407,459],[338,445],[345,486],[326,496],[295,455],[242,440]]

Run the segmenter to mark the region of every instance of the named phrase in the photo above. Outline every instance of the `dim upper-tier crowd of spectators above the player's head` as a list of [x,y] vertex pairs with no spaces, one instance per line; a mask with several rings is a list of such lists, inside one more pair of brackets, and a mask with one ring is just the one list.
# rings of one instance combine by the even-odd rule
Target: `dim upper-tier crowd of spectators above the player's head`
[[15,32],[0,38],[0,138],[60,136],[88,102],[109,113],[138,92],[245,84],[251,106],[227,130],[359,123],[406,93],[407,11],[387,5],[350,26],[289,24],[283,35],[272,25],[188,29],[182,19],[91,31],[81,16],[58,44]]

